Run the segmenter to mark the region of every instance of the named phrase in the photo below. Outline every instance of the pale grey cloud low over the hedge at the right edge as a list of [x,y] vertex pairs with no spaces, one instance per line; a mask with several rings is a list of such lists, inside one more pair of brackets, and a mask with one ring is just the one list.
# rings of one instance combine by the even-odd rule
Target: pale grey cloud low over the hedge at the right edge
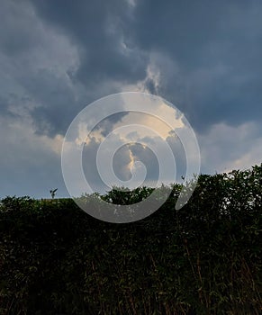
[[213,174],[260,164],[261,131],[261,125],[254,122],[245,122],[238,127],[220,123],[208,134],[198,135],[202,172]]

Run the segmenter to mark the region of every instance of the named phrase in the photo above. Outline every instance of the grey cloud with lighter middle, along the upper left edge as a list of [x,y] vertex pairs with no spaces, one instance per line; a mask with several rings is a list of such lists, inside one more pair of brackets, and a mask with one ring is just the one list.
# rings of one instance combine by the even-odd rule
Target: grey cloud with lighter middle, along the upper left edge
[[66,40],[43,26],[28,2],[3,1],[0,17],[1,114],[30,114],[37,133],[64,133],[80,108],[62,73],[71,53],[58,56]]

